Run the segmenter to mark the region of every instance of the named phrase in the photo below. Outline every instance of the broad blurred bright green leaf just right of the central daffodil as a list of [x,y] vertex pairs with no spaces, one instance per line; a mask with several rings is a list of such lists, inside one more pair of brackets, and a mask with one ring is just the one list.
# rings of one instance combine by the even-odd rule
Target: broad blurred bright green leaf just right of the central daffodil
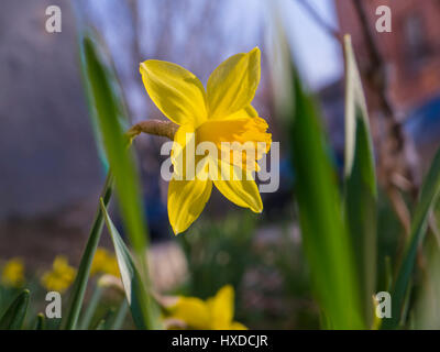
[[363,329],[354,253],[341,209],[337,175],[314,99],[294,78],[290,145],[305,253],[327,327]]

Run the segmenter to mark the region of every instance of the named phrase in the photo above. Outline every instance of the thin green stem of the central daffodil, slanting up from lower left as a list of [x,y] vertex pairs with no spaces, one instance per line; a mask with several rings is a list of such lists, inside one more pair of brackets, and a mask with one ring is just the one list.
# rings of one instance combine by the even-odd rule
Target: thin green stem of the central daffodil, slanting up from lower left
[[[112,176],[108,175],[106,184],[103,186],[101,197],[102,201],[107,206],[111,198],[112,193]],[[63,321],[63,327],[67,330],[76,329],[79,312],[82,307],[84,295],[87,288],[87,282],[90,276],[90,267],[94,261],[95,252],[98,248],[99,239],[101,238],[103,227],[103,217],[101,208],[98,207],[97,215],[95,217],[94,224],[90,230],[90,235],[86,244],[86,249],[82,253],[81,261],[79,263],[78,273],[75,277],[75,282],[72,286],[70,297],[67,306],[66,319]]]

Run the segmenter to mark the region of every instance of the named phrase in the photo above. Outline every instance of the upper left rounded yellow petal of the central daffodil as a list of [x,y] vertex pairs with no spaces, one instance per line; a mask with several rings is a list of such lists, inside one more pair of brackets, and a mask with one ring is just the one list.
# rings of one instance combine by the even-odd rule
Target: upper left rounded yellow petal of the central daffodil
[[207,119],[204,85],[189,70],[148,59],[141,63],[140,72],[148,96],[169,120],[197,127]]

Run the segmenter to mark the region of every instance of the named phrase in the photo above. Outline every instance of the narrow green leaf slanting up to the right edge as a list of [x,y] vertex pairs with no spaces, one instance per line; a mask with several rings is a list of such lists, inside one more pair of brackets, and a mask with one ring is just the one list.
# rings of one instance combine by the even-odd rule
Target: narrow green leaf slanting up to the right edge
[[411,282],[417,250],[425,239],[428,218],[440,195],[440,150],[424,182],[420,199],[411,222],[411,234],[392,292],[392,318],[384,319],[382,329],[396,329],[402,320],[406,296]]

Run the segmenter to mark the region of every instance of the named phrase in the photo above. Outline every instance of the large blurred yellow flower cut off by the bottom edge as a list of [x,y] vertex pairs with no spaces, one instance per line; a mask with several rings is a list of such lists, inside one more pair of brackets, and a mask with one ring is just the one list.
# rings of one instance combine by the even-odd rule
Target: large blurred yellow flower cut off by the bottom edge
[[178,297],[168,307],[169,328],[185,327],[196,330],[246,330],[242,323],[233,321],[234,292],[227,285],[215,297],[206,301],[196,297]]

